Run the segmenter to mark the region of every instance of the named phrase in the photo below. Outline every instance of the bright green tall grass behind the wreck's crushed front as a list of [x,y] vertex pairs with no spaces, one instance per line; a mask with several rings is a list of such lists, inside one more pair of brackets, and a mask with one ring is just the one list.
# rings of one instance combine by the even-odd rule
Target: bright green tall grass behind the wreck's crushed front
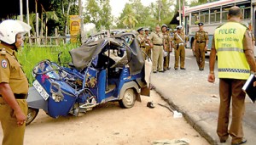
[[40,61],[49,59],[50,61],[58,62],[58,53],[61,54],[61,62],[71,62],[69,50],[78,47],[75,44],[61,45],[59,47],[29,47],[25,46],[18,52],[17,58],[22,64],[22,68],[25,71],[26,77],[29,80],[30,86],[34,78],[32,76],[33,67]]

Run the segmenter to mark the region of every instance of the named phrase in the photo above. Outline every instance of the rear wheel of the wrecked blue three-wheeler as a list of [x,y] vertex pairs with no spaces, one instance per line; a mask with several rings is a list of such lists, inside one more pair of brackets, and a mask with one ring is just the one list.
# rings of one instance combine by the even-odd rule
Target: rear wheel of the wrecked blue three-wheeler
[[119,105],[123,109],[130,109],[134,106],[136,101],[136,93],[133,89],[125,90],[124,96],[121,100],[119,100]]

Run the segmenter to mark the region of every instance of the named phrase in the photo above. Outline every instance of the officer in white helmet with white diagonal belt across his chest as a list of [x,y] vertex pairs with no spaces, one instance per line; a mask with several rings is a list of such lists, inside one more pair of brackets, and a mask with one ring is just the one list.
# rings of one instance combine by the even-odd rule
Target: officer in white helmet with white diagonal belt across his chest
[[177,25],[177,32],[173,36],[173,47],[175,50],[175,64],[174,69],[178,68],[178,60],[180,60],[180,69],[186,70],[185,68],[185,44],[188,41],[188,36],[183,33],[183,26]]

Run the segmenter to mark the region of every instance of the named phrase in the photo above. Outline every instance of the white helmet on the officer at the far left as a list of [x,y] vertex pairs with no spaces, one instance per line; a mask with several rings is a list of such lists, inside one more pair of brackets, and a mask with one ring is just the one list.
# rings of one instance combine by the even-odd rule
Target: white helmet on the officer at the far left
[[0,40],[13,44],[18,33],[25,35],[30,30],[31,26],[20,20],[4,20],[0,24]]

